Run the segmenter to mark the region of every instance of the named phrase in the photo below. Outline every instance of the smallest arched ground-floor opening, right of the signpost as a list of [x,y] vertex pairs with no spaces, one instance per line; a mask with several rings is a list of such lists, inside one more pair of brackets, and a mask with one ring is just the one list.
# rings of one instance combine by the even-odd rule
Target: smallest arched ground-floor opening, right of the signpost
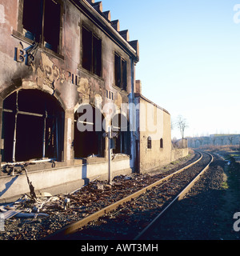
[[112,119],[112,130],[117,133],[114,138],[114,154],[130,155],[130,123],[123,114],[116,114]]

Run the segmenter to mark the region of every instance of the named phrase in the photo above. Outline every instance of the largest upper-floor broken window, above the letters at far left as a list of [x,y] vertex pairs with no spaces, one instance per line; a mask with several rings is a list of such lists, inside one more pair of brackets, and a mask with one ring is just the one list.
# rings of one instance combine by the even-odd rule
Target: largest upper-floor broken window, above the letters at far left
[[58,0],[24,0],[22,25],[26,38],[59,51],[61,5]]

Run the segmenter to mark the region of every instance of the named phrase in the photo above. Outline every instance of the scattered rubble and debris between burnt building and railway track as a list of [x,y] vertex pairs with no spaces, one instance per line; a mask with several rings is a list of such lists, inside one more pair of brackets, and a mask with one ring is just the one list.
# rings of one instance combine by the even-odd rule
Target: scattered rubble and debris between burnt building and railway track
[[[177,168],[177,166],[176,166]],[[179,168],[179,166],[178,166]],[[5,231],[0,240],[40,240],[49,234],[93,214],[166,176],[164,174],[119,175],[109,184],[94,180],[70,194],[24,194],[18,201],[0,205]]]

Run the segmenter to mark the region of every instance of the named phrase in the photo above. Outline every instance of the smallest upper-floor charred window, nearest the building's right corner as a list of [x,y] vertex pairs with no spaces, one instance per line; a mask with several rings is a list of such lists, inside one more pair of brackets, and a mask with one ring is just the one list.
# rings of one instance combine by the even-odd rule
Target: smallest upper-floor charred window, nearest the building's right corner
[[126,90],[126,61],[115,54],[115,86]]

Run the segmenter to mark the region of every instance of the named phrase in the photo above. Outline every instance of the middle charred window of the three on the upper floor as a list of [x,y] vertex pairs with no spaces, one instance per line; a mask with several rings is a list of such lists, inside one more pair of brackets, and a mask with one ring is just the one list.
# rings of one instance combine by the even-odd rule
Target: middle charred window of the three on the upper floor
[[82,67],[101,76],[102,40],[84,26],[82,26]]

